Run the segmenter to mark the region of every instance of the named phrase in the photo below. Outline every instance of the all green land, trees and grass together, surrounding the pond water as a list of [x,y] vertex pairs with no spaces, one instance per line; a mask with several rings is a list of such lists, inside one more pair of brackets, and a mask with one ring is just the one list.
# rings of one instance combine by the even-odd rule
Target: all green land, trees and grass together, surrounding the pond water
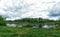
[[[24,24],[26,27],[7,27],[7,23]],[[57,28],[31,28],[32,24],[58,24]],[[23,18],[14,21],[6,21],[0,16],[0,37],[60,37],[60,20],[48,20],[42,18]]]

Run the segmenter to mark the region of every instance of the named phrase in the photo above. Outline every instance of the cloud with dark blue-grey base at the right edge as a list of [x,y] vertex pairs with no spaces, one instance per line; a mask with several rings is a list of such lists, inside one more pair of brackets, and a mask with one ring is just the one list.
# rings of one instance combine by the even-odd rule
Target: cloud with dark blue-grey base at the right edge
[[60,16],[60,2],[56,3],[50,11],[51,17],[58,17]]

